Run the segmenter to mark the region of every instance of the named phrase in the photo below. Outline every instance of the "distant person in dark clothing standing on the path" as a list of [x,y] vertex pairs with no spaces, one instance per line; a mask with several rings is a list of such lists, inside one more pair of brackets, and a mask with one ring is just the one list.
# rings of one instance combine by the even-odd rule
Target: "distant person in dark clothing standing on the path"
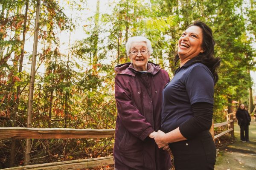
[[249,125],[250,125],[250,114],[244,108],[244,104],[240,104],[239,108],[236,111],[236,119],[238,121],[238,125],[240,126],[240,139],[242,142],[250,142],[249,141]]

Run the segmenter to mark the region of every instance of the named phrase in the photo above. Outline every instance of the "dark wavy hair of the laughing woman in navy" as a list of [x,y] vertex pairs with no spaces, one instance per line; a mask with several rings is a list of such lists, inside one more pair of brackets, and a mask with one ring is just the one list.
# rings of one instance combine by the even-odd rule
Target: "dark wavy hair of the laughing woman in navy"
[[[187,28],[191,26],[198,26],[203,31],[202,49],[204,50],[204,52],[198,54],[198,56],[195,57],[195,61],[193,63],[201,62],[202,64],[206,65],[212,72],[212,75],[214,78],[214,84],[215,84],[216,82],[218,82],[218,74],[216,69],[219,67],[221,60],[219,57],[214,57],[215,41],[212,37],[212,29],[201,21],[195,21],[193,24],[189,25]],[[176,54],[174,59],[175,65],[178,64],[179,60],[180,60],[179,55]]]

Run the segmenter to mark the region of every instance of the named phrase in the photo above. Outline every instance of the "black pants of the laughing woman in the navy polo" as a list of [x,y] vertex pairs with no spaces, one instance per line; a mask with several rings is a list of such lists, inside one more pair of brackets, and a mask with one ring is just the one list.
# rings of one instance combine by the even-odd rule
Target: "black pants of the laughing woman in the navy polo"
[[175,170],[214,170],[216,148],[209,130],[194,139],[169,144]]

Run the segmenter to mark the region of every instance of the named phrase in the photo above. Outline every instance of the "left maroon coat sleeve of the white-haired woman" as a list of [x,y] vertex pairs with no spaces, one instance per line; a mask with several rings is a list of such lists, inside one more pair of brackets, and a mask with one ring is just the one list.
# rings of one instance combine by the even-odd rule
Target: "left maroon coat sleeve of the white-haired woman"
[[124,81],[120,81],[122,75],[115,78],[115,98],[118,116],[125,128],[137,138],[144,140],[153,127],[132,104],[131,93]]

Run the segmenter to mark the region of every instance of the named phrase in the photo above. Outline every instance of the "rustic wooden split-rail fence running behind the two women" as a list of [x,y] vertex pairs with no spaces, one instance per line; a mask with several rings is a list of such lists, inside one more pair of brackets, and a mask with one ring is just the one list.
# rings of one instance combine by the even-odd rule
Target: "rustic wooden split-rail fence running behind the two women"
[[[230,133],[234,137],[234,113],[227,115],[227,121],[213,123],[210,129],[212,138],[215,140],[220,136]],[[214,136],[214,128],[227,125],[228,130]],[[1,139],[79,139],[79,138],[106,138],[114,137],[114,129],[69,129],[69,128],[25,128],[25,127],[0,127]],[[3,170],[76,170],[113,164],[113,156],[78,159],[72,161],[52,162],[46,164],[34,164],[19,167],[11,167]]]

